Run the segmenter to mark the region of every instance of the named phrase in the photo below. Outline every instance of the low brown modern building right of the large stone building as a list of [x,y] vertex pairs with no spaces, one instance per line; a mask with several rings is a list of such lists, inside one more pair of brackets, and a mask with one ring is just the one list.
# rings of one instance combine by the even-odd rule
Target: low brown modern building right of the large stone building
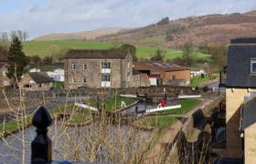
[[157,84],[186,86],[190,84],[190,69],[167,62],[137,62],[133,68],[146,73],[151,86]]

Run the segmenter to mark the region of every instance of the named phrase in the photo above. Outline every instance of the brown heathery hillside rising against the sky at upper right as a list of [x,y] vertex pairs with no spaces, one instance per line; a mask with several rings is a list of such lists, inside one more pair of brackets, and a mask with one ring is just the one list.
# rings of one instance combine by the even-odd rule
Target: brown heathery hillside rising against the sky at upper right
[[[189,16],[164,22],[162,20],[148,26],[100,36],[95,40],[144,46],[181,47],[189,40],[194,46],[227,45],[231,38],[256,36],[256,11],[244,14]],[[167,34],[169,40],[165,39]]]

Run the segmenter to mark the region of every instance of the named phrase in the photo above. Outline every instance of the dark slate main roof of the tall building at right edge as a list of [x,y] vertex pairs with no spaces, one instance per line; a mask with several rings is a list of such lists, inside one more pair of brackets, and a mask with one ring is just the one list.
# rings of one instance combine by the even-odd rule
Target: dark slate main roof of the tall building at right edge
[[250,73],[251,58],[256,58],[256,38],[231,40],[226,87],[256,87],[256,74]]

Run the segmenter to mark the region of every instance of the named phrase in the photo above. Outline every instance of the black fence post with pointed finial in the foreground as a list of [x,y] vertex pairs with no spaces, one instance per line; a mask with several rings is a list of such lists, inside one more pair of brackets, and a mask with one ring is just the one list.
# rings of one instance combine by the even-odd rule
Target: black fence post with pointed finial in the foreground
[[48,126],[52,123],[52,118],[48,110],[44,107],[37,109],[32,124],[37,128],[37,136],[31,144],[31,163],[43,164],[51,161],[51,140],[48,138]]

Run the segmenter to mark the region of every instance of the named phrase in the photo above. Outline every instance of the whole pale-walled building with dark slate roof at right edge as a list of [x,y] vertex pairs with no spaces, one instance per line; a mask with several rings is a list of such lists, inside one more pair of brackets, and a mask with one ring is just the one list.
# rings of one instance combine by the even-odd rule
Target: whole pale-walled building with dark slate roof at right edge
[[226,79],[225,156],[256,163],[256,38],[232,39]]

